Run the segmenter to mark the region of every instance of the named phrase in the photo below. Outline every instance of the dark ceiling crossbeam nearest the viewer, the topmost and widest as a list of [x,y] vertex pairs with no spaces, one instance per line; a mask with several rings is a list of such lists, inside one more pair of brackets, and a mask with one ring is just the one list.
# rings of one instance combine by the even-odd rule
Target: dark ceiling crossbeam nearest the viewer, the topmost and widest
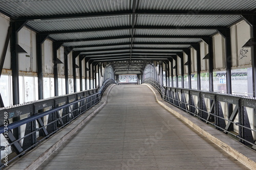
[[50,20],[50,19],[69,19],[69,18],[86,18],[86,17],[104,17],[116,15],[255,15],[253,11],[193,11],[188,10],[133,10],[112,11],[110,12],[95,12],[95,13],[75,13],[75,14],[60,14],[60,15],[43,15],[43,16],[25,16],[14,17],[9,14],[12,20]]

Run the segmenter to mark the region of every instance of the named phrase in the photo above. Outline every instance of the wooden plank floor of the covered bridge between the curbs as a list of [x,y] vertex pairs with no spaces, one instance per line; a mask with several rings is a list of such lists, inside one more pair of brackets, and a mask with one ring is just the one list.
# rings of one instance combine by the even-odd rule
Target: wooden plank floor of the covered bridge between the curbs
[[163,109],[144,85],[108,104],[37,169],[247,169]]

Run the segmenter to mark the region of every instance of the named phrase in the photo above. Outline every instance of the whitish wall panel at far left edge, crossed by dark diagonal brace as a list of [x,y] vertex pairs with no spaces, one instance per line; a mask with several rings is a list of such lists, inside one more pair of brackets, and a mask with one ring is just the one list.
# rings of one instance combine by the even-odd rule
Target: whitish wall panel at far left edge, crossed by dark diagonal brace
[[[0,54],[3,53],[4,50],[4,45],[5,45],[5,40],[9,28],[9,18],[5,17],[4,15],[0,14]],[[0,58],[2,55],[0,55]],[[4,62],[4,67],[5,69],[11,69],[11,50],[10,50],[10,41],[5,57],[5,62]]]

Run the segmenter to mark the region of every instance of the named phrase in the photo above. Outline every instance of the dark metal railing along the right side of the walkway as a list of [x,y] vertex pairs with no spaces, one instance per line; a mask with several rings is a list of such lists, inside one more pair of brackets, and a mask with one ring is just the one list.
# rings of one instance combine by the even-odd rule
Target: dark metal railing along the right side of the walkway
[[[256,130],[253,129],[255,121],[248,116],[248,113],[250,117],[255,115],[256,98],[175,87],[165,87],[162,90],[163,87],[152,78],[143,80],[143,83],[154,86],[166,102],[256,150]],[[223,104],[226,107],[223,107]],[[227,111],[223,111],[224,109]]]

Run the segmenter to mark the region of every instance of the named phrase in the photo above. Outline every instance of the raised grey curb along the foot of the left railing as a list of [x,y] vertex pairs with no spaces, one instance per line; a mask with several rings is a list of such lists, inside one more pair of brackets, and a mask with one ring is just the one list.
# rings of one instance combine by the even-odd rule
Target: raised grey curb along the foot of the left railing
[[90,110],[82,114],[79,118],[74,120],[74,122],[51,136],[49,139],[40,143],[34,150],[29,151],[22,158],[12,162],[12,164],[7,166],[5,169],[32,170],[39,167],[61,146],[61,144],[65,143],[72,135],[74,135],[79,128],[87,123],[90,118],[94,116],[106,104],[106,98],[113,86],[115,86],[115,84],[106,89],[108,92],[106,94],[104,92],[105,95],[103,95],[100,103],[93,106]]

